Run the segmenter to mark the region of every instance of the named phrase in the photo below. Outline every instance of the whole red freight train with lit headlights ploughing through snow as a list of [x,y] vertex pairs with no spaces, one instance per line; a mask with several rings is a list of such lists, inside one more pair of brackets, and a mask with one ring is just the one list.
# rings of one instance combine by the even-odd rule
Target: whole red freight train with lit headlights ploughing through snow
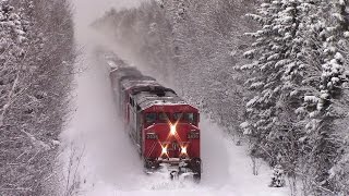
[[110,68],[117,110],[147,173],[166,169],[171,177],[201,179],[200,113],[174,90],[143,75],[112,52],[99,58]]

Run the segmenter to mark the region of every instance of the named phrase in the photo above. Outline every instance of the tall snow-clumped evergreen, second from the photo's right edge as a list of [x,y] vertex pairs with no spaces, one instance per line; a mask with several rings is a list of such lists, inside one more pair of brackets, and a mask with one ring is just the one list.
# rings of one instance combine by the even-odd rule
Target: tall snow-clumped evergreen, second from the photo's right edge
[[[303,106],[296,112],[304,122],[300,170],[311,184],[308,189],[332,193],[329,170],[338,158],[340,144],[335,131],[335,120],[340,118],[338,100],[342,95],[345,58],[339,52],[338,27],[333,19],[333,1],[305,1],[309,8],[304,20],[304,77],[300,82]],[[335,7],[334,7],[335,8]],[[338,23],[337,23],[338,24]],[[336,33],[337,32],[337,33]],[[340,32],[340,30],[339,30]],[[341,32],[342,34],[342,32]],[[306,114],[306,115],[304,115]]]

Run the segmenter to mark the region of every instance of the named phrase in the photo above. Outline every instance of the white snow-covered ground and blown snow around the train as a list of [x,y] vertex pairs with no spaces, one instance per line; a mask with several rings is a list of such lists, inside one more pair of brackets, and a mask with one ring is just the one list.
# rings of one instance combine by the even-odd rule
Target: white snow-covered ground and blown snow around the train
[[[75,4],[77,13],[80,9],[86,9],[80,1],[83,0],[76,0]],[[77,25],[81,16],[76,20]],[[81,36],[86,37],[84,33]],[[253,175],[245,148],[236,146],[220,127],[206,119],[202,119],[200,125],[204,162],[200,184],[170,181],[167,174],[144,174],[142,161],[120,125],[107,68],[93,58],[91,48],[95,41],[93,37],[80,41],[84,49],[79,63],[86,69],[76,78],[76,112],[71,128],[62,134],[67,161],[72,152],[70,147],[77,149],[73,159],[77,167],[76,174],[73,173],[81,182],[77,195],[288,195],[287,187],[268,187],[270,170],[266,166],[262,164],[260,174]]]

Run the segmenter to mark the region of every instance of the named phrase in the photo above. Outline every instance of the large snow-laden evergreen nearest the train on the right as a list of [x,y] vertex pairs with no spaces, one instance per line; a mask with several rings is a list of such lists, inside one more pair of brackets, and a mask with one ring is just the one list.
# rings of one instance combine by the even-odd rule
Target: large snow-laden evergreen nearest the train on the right
[[258,15],[250,14],[262,24],[262,29],[248,34],[256,41],[245,57],[254,62],[241,68],[250,70],[253,77],[248,83],[256,94],[246,105],[249,121],[244,124],[256,142],[255,149],[262,145],[262,149],[269,151],[272,161],[277,154],[287,154],[289,144],[286,143],[297,142],[286,137],[297,131],[294,108],[301,102],[297,84],[302,81],[305,69],[301,22],[306,9],[302,5],[294,0],[264,1]]

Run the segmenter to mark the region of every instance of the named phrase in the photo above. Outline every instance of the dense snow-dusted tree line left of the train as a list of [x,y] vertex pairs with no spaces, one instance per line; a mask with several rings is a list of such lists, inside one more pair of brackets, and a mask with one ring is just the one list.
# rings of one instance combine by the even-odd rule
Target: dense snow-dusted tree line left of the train
[[59,195],[73,36],[68,0],[0,1],[0,195]]

